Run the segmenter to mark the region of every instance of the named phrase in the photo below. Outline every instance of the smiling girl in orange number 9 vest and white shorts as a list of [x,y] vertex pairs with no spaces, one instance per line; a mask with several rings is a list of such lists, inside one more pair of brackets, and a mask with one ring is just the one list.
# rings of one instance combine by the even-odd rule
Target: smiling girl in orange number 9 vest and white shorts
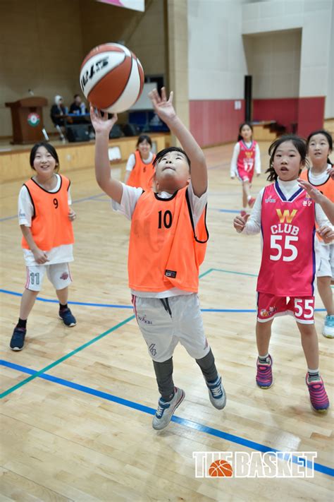
[[67,326],[76,321],[68,309],[68,285],[72,282],[68,262],[73,261],[70,181],[58,174],[59,160],[49,143],[37,143],[30,152],[35,175],[23,184],[18,196],[18,220],[23,233],[22,247],[27,268],[20,317],[11,337],[12,350],[21,350],[27,333],[27,317],[45,273],[56,289],[59,317]]

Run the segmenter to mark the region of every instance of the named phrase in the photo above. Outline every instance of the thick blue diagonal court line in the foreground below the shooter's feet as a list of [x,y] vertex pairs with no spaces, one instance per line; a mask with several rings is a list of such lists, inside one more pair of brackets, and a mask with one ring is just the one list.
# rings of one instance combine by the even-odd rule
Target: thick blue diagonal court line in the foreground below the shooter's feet
[[[116,402],[118,405],[132,408],[132,410],[137,410],[150,415],[154,415],[156,412],[154,408],[140,405],[140,403],[138,402],[130,401],[123,398],[118,398],[118,396],[116,395],[102,392],[101,390],[96,390],[91,387],[82,386],[79,383],[70,382],[68,380],[64,380],[63,378],[58,378],[57,376],[47,375],[45,373],[40,374],[39,371],[35,371],[30,368],[26,368],[25,366],[14,364],[9,361],[4,361],[3,359],[0,359],[0,364],[2,366],[6,366],[7,368],[15,369],[16,371],[22,371],[23,373],[28,373],[31,376],[38,376],[39,378],[42,378],[44,380],[58,383],[59,385],[64,387],[79,390],[82,393],[94,395],[97,398],[105,399],[111,402]],[[276,450],[276,448],[270,448],[269,446],[262,445],[261,443],[256,443],[255,441],[250,441],[249,439],[245,439],[240,436],[235,436],[234,434],[229,434],[228,432],[219,431],[218,429],[214,429],[213,427],[205,426],[199,424],[198,422],[192,422],[192,420],[183,419],[181,417],[177,417],[176,415],[173,415],[171,421],[175,422],[176,424],[188,427],[189,429],[193,429],[195,431],[199,431],[204,434],[209,434],[210,436],[215,436],[217,438],[224,439],[225,441],[230,441],[230,443],[235,443],[241,446],[245,446],[246,448],[250,448],[251,450],[257,450],[262,453],[280,452],[280,450]],[[292,455],[292,462],[298,464],[299,460],[297,459],[297,457]],[[307,462],[307,467],[311,468],[311,462],[309,461]],[[328,467],[327,465],[322,465],[318,464],[317,462],[314,462],[314,470],[317,472],[321,472],[323,474],[327,474],[328,476],[334,477],[334,469],[332,467]]]

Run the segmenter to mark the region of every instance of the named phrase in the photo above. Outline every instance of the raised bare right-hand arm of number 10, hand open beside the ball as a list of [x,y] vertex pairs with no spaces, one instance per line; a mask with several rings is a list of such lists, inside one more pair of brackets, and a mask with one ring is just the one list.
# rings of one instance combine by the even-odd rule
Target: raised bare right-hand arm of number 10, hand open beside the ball
[[154,111],[161,120],[166,122],[171,132],[175,134],[180,141],[183,150],[187,153],[191,162],[191,179],[194,194],[197,197],[202,196],[208,186],[208,172],[202,148],[197,144],[192,133],[188,131],[185,125],[180,121],[173,107],[173,92],[166,98],[166,89],[161,89],[161,97],[155,89],[149,92],[149,97],[154,106]]

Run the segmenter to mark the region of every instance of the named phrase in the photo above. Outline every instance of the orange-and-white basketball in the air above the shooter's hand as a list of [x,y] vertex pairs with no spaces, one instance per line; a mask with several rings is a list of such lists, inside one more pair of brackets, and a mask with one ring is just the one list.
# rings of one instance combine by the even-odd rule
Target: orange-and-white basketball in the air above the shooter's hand
[[82,62],[80,85],[94,107],[109,113],[125,112],[142,93],[144,71],[140,60],[124,45],[102,44]]

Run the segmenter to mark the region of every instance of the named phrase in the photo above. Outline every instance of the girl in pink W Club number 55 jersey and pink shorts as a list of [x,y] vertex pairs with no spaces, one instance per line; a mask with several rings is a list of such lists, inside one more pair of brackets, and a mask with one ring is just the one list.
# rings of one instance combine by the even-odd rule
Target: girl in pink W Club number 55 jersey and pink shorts
[[286,313],[295,317],[307,360],[306,383],[311,405],[317,412],[329,407],[319,374],[318,336],[314,327],[314,277],[316,273],[315,223],[322,234],[332,228],[323,210],[298,184],[306,163],[307,147],[298,136],[288,135],[269,148],[268,181],[261,190],[252,215],[237,216],[234,227],[243,234],[261,231],[263,250],[256,290],[258,311],[256,343],[259,350],[256,383],[261,388],[273,384],[273,360],[268,353],[273,318]]

